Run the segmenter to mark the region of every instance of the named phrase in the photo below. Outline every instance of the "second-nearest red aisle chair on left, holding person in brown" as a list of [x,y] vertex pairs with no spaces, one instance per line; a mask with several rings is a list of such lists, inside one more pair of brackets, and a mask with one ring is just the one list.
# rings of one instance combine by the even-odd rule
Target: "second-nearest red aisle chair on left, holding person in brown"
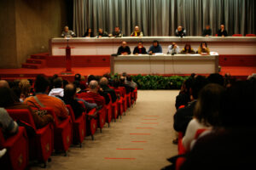
[[46,167],[49,156],[53,152],[54,130],[52,123],[37,129],[29,110],[9,109],[7,111],[14,120],[26,122],[35,129],[35,137],[29,138],[29,157],[31,160],[37,159],[39,162],[43,162]]

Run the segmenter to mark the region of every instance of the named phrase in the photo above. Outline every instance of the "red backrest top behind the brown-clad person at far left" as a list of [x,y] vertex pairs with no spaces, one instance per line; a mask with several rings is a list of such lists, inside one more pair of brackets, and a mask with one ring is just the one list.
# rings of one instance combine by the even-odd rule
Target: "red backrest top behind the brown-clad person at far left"
[[30,124],[34,129],[37,129],[32,118],[32,113],[28,109],[7,109],[6,110],[14,120],[20,120]]

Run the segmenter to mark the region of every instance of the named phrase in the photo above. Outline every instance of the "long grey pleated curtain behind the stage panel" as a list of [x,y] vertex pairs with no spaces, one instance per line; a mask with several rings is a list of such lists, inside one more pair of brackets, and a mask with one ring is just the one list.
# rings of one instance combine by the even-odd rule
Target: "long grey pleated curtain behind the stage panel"
[[221,24],[229,35],[256,33],[255,0],[73,0],[73,30],[79,37],[87,28],[108,33],[119,26],[130,36],[140,26],[144,36],[174,36],[183,26],[188,36],[201,36],[210,25]]

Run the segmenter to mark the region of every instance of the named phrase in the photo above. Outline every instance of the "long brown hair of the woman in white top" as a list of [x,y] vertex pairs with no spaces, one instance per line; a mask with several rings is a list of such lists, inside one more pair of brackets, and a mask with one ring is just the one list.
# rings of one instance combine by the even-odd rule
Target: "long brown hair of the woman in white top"
[[201,89],[195,104],[195,118],[206,126],[219,126],[224,109],[224,87],[210,83]]

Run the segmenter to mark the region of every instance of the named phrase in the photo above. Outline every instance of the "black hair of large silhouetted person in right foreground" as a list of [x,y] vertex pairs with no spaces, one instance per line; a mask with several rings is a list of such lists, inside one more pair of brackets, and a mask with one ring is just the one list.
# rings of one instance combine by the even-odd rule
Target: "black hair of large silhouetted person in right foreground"
[[254,126],[256,120],[256,82],[238,81],[227,88],[224,114],[224,127]]

